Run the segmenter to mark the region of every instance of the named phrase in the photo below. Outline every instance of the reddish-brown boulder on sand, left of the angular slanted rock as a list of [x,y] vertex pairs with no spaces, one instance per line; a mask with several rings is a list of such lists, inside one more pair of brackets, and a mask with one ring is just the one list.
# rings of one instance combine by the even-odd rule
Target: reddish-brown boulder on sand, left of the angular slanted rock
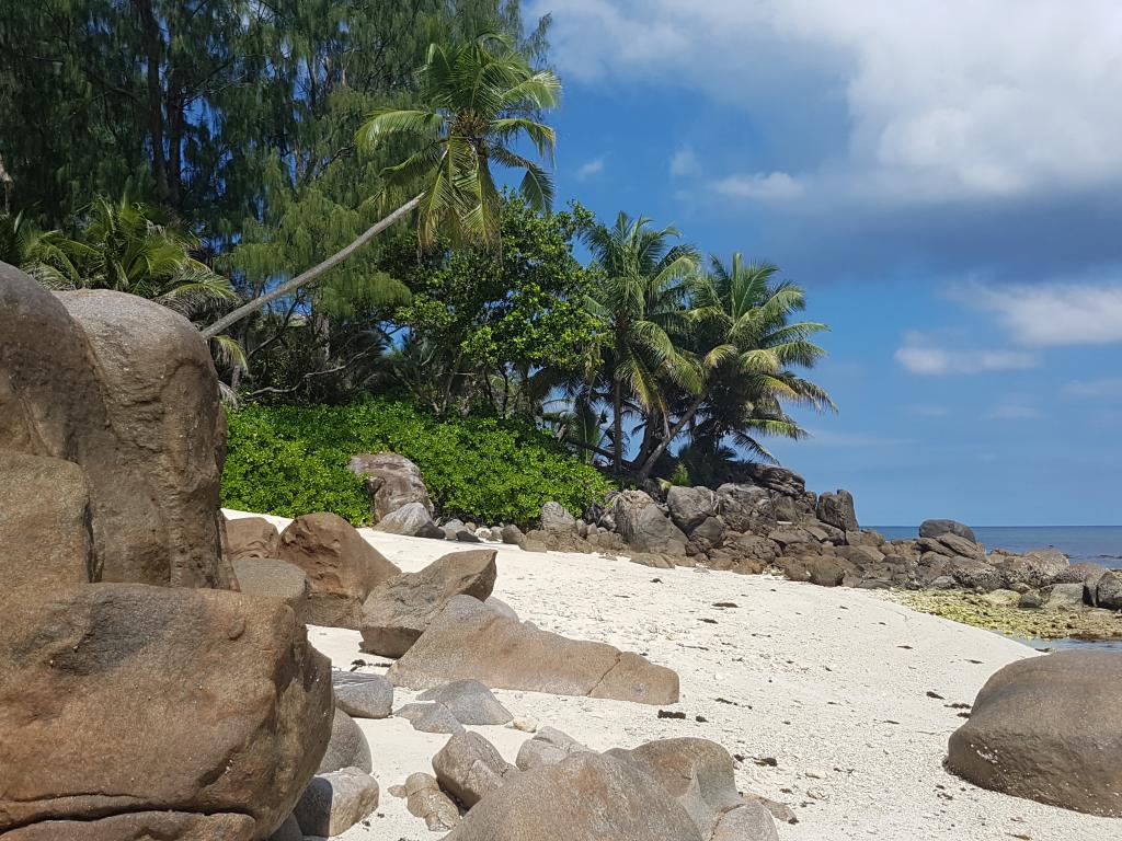
[[353,526],[328,511],[294,519],[280,535],[279,556],[307,575],[304,616],[312,625],[357,630],[366,597],[401,574]]

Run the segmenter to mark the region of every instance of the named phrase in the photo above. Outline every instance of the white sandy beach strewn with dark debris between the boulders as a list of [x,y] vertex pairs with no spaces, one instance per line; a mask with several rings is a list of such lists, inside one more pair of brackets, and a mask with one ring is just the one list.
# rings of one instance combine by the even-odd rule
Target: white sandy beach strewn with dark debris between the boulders
[[[362,534],[408,572],[458,548]],[[610,643],[674,668],[682,697],[672,709],[687,718],[659,719],[654,706],[530,692],[496,691],[498,699],[516,717],[600,750],[680,736],[718,741],[743,757],[742,791],[794,808],[800,822],[779,828],[784,841],[1122,835],[1122,821],[986,792],[942,769],[947,737],[962,723],[959,710],[949,705],[973,702],[997,668],[1036,656],[1019,643],[866,591],[497,548],[495,595],[542,628]],[[356,659],[385,663],[359,651],[356,631],[312,627],[309,634],[337,667],[349,668]],[[395,706],[412,697],[399,690]],[[439,838],[388,789],[413,771],[431,773],[430,759],[448,737],[415,732],[401,719],[359,724],[370,742],[381,804],[368,826],[340,838]],[[511,761],[528,738],[503,727],[471,729]]]

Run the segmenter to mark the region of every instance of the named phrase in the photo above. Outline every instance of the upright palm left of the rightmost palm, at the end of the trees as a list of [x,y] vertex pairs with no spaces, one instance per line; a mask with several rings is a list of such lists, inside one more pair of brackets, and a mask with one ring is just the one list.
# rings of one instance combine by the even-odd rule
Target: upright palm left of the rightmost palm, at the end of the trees
[[[664,381],[691,385],[673,336],[687,327],[682,283],[697,267],[691,246],[670,246],[674,228],[654,229],[651,220],[620,213],[616,224],[597,224],[585,233],[599,270],[588,307],[607,326],[601,349],[611,383],[613,465],[623,472],[625,388],[649,413],[665,412]],[[650,424],[651,417],[647,418]]]

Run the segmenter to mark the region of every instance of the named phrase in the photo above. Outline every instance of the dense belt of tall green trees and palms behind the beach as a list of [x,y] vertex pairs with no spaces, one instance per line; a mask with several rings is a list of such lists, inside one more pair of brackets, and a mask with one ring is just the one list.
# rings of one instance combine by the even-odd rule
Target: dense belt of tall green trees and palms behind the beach
[[696,483],[833,408],[775,267],[550,211],[560,81],[517,2],[0,2],[0,259],[176,306],[231,400],[395,395]]

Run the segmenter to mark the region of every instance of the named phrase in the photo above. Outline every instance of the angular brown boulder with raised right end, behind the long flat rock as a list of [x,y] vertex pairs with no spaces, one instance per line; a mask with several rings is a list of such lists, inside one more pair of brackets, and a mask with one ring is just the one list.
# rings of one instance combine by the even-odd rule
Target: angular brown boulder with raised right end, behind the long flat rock
[[421,572],[402,573],[379,584],[362,606],[362,650],[401,657],[450,599],[487,599],[498,574],[495,554],[495,549],[453,552]]

